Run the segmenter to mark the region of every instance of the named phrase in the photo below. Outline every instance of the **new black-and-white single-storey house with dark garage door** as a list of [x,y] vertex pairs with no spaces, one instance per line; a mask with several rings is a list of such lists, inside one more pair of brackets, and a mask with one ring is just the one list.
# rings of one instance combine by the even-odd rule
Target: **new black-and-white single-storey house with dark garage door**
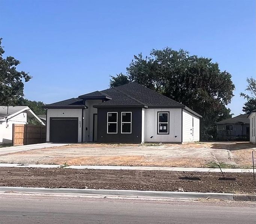
[[135,82],[44,108],[49,142],[199,141],[201,115]]

